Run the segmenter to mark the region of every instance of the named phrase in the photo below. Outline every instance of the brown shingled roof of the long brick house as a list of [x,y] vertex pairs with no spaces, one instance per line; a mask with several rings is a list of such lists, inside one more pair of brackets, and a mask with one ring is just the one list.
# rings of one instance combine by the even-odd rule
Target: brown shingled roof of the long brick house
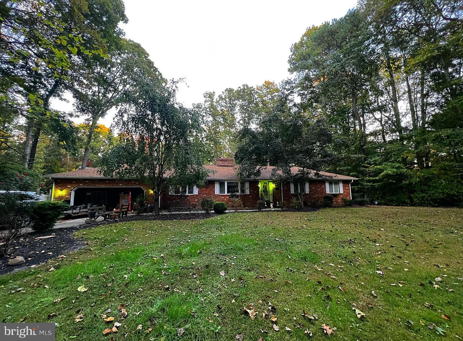
[[[238,179],[238,168],[237,165],[204,165],[206,169],[211,170],[207,180],[237,180]],[[257,180],[271,180],[273,166],[263,167],[261,169],[261,175],[258,176]],[[296,174],[300,167],[292,167],[291,173]],[[278,171],[277,174],[281,174],[281,171]],[[62,172],[62,173],[54,173],[54,174],[47,174],[44,175],[46,178],[51,179],[111,179],[106,178],[103,175],[98,174],[98,167],[95,168],[86,168],[86,169],[78,169],[71,172]],[[319,172],[319,177],[315,176],[312,172],[309,176],[309,179],[333,179],[333,180],[357,180],[357,178],[334,174],[334,173],[327,173],[327,172]]]

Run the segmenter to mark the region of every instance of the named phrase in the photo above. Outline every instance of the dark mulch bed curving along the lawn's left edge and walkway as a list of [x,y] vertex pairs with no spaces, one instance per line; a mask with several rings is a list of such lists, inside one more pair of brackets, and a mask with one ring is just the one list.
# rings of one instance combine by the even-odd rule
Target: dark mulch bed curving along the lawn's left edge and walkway
[[[25,269],[31,265],[39,265],[45,263],[47,260],[58,257],[61,254],[68,254],[74,252],[87,245],[87,241],[82,238],[75,238],[74,232],[80,229],[87,229],[89,227],[95,227],[99,225],[106,225],[111,223],[117,223],[121,221],[136,221],[136,220],[188,220],[188,219],[206,219],[213,217],[214,214],[205,215],[202,213],[172,213],[162,214],[160,216],[154,215],[132,215],[121,219],[106,220],[104,222],[96,222],[90,224],[84,224],[76,227],[53,229],[47,232],[31,232],[26,235],[19,236],[17,239],[11,242],[11,248],[13,254],[0,258],[0,275],[12,272],[15,269]],[[55,236],[47,239],[36,239],[40,236]],[[24,257],[25,264],[17,266],[6,265],[8,260],[13,259],[16,256]]]

